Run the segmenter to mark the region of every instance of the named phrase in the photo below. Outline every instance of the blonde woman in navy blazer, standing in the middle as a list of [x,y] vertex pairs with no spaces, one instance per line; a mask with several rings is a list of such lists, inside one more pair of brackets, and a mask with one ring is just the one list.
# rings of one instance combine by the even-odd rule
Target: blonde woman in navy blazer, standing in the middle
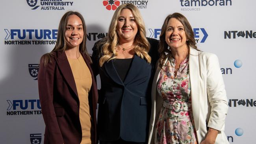
[[94,72],[101,80],[100,144],[147,142],[157,45],[157,40],[145,37],[145,25],[136,6],[122,4],[117,8],[108,37],[93,47]]

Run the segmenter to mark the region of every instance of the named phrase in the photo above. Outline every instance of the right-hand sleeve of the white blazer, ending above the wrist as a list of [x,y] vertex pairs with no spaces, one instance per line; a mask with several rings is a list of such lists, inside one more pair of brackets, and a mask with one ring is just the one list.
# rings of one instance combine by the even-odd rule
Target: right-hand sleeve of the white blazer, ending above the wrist
[[219,66],[219,60],[215,54],[211,54],[210,57],[208,57],[206,68],[206,89],[208,100],[211,105],[208,127],[224,131],[225,118],[228,112],[228,100]]

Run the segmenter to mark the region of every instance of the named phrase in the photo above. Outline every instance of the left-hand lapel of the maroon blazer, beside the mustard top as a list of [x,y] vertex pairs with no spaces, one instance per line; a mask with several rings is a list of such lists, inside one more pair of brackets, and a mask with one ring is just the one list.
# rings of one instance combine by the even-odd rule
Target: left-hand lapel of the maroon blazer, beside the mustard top
[[76,96],[78,96],[77,90],[76,90],[76,82],[74,80],[74,76],[72,73],[72,70],[69,65],[69,61],[67,59],[67,55],[65,52],[57,52],[57,58],[56,63],[61,70],[61,73],[63,74],[63,77],[67,81],[68,85],[71,87],[71,89],[74,91]]

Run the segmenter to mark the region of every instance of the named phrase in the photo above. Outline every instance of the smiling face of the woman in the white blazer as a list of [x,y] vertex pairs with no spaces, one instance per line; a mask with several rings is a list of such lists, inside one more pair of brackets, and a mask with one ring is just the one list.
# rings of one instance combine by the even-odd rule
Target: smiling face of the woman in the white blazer
[[187,38],[183,24],[176,18],[171,18],[167,24],[165,41],[170,48],[187,48]]

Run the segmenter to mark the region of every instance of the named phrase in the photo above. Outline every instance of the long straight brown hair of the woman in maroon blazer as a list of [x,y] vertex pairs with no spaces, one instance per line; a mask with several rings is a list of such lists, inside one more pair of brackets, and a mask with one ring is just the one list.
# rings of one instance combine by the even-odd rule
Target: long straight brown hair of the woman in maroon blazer
[[65,13],[60,22],[59,22],[59,28],[58,28],[58,35],[57,35],[57,42],[56,45],[54,46],[54,49],[43,55],[43,61],[44,64],[47,65],[50,61],[50,57],[53,55],[54,52],[57,51],[62,51],[64,52],[67,49],[67,42],[65,39],[65,31],[66,31],[66,27],[67,27],[67,22],[69,20],[69,16],[70,15],[76,15],[78,16],[81,20],[82,20],[82,24],[83,24],[83,41],[82,43],[79,45],[79,51],[82,54],[85,54],[85,56],[87,56],[87,58],[89,58],[89,60],[91,61],[91,57],[89,56],[87,49],[86,49],[86,26],[85,26],[85,21],[83,19],[83,16],[76,12],[76,11],[68,11],[67,13]]

